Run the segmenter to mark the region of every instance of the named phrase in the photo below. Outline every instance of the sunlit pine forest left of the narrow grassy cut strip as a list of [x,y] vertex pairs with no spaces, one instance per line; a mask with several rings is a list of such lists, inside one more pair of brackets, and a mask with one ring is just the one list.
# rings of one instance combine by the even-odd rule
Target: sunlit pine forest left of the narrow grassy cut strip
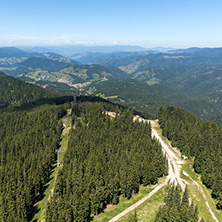
[[63,106],[0,113],[0,221],[30,221],[55,163]]

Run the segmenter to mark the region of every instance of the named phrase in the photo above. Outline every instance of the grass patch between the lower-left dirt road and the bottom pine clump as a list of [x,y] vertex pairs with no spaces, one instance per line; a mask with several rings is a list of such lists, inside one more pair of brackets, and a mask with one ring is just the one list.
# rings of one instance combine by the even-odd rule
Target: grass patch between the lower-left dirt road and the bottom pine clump
[[[144,203],[142,203],[140,206],[136,208],[138,221],[153,222],[155,220],[156,213],[160,205],[163,204],[163,200],[165,197],[165,193],[164,193],[165,189],[166,189],[166,186],[161,188],[157,193],[155,193],[152,197],[150,197],[148,200],[146,200]],[[132,213],[134,213],[134,211],[128,213],[127,215],[122,217],[119,221],[127,222],[129,216]]]

